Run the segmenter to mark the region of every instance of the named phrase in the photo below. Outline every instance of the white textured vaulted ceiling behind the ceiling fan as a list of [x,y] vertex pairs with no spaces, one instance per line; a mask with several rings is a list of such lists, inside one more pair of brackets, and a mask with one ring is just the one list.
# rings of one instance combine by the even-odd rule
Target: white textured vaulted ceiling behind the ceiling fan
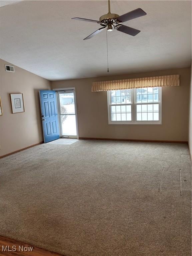
[[[141,30],[135,37],[108,32],[109,74],[190,66],[191,1],[111,1],[111,12],[136,8],[147,15],[125,22]],[[106,31],[100,28],[107,1],[21,1],[1,10],[1,58],[49,80],[104,76]]]

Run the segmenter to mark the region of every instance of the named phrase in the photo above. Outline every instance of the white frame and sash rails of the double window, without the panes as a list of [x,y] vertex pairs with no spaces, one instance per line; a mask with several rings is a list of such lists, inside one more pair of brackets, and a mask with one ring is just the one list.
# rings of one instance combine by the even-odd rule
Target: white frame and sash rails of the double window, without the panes
[[[158,102],[146,102],[146,103],[137,103],[136,97],[137,89],[131,92],[131,103],[128,104],[111,104],[111,91],[107,91],[107,103],[108,103],[108,123],[109,124],[162,124],[162,90],[159,88],[159,101]],[[147,105],[147,104],[159,104],[159,120],[158,121],[136,121],[136,106],[137,105]],[[111,120],[111,106],[122,106],[122,105],[131,105],[131,120],[132,121],[112,121]]]

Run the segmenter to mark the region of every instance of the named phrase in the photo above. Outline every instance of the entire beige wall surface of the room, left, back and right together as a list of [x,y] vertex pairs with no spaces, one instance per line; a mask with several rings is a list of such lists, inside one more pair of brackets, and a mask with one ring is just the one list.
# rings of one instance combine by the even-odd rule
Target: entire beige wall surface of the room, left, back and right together
[[[50,83],[17,66],[15,73],[6,72],[5,64],[10,63],[1,60],[0,96],[3,116],[0,116],[0,156],[43,141],[38,91],[50,89],[50,84],[51,88],[76,88],[79,137],[173,141],[189,139],[190,148],[192,146],[191,95],[188,120],[191,68]],[[107,92],[91,92],[93,81],[169,74],[180,74],[180,86],[162,88],[162,125],[109,125]],[[12,114],[10,93],[23,93],[24,113]]]

